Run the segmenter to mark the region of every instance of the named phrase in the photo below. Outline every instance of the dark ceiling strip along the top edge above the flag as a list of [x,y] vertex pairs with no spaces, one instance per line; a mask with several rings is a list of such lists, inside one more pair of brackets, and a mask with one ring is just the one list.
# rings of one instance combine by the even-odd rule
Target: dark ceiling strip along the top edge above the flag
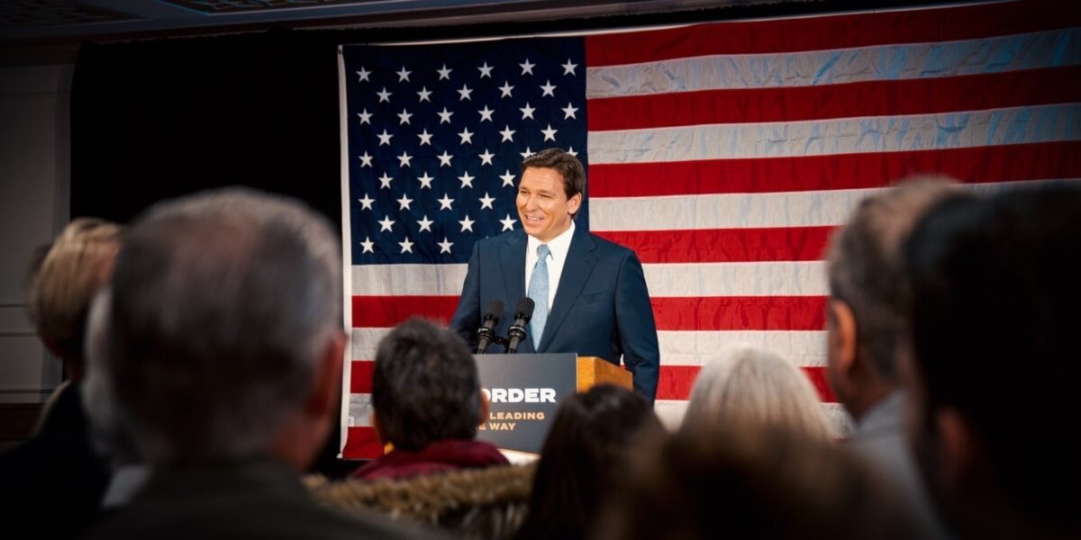
[[[221,33],[270,26],[477,24],[771,0],[0,0],[0,44]],[[772,0],[776,3],[778,0]],[[791,0],[788,0],[791,1]]]

